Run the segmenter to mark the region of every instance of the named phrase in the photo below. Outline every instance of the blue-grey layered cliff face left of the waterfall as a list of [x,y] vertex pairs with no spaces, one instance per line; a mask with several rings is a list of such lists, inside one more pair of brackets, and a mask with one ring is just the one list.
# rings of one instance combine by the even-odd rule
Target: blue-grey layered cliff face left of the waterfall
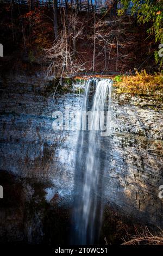
[[56,190],[49,193],[60,191],[66,198],[73,187],[77,132],[54,131],[52,115],[64,113],[65,106],[77,111],[82,99],[66,93],[53,101],[55,86],[49,92],[49,82],[20,83],[24,79],[18,79],[18,83],[3,82],[1,87],[1,169],[40,181],[50,179]]

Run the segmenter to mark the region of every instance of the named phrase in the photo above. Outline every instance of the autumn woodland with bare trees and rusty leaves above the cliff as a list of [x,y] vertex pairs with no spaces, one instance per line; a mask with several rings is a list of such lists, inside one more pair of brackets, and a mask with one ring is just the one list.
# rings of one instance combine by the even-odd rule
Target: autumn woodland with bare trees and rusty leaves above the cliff
[[24,66],[46,65],[48,76],[134,72],[134,68],[151,73],[162,64],[158,54],[163,43],[162,3],[4,0],[0,42],[5,56],[12,55],[14,61],[19,57]]

